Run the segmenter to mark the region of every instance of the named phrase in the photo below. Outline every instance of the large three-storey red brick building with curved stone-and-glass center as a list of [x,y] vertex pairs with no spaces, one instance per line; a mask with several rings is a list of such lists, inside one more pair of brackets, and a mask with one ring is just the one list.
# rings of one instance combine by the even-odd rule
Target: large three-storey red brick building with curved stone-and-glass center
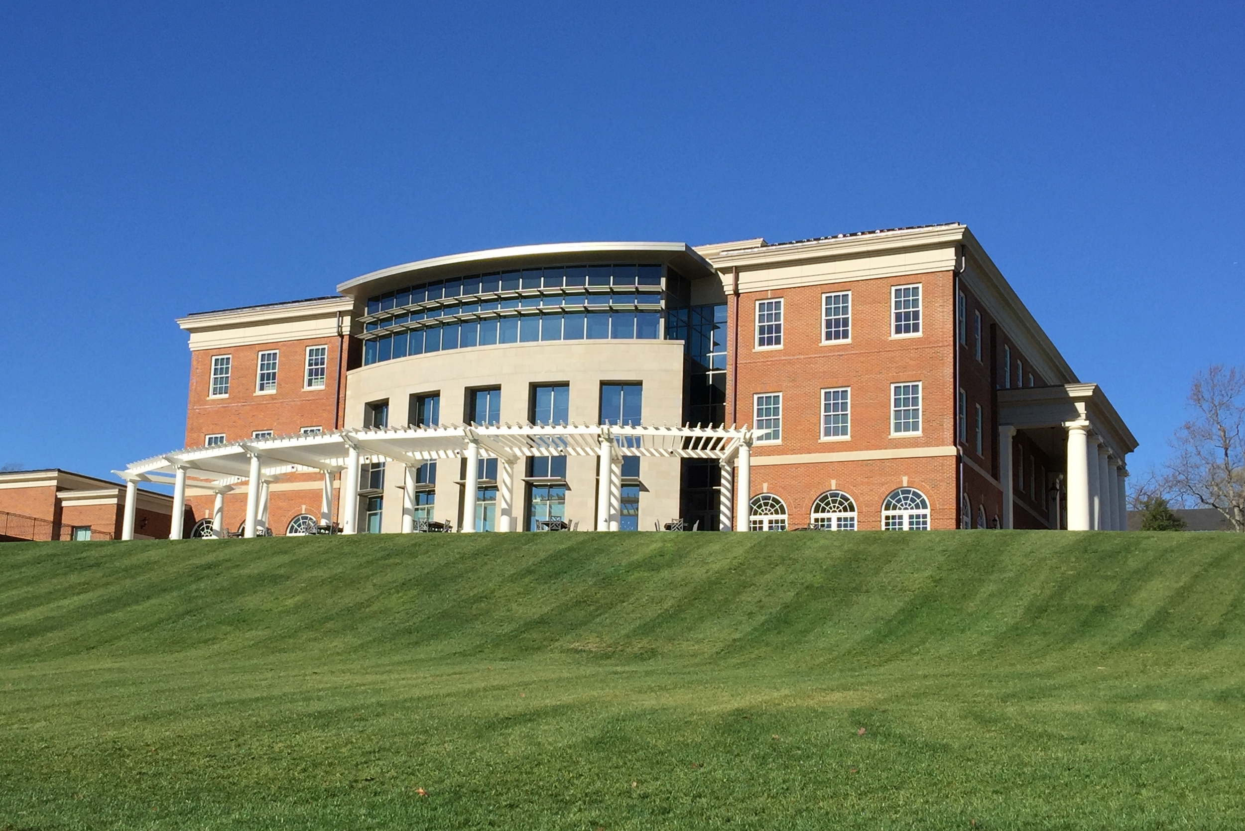
[[204,535],[1124,526],[1135,439],[960,224],[474,251],[337,291],[182,318],[187,449],[126,476],[179,481]]

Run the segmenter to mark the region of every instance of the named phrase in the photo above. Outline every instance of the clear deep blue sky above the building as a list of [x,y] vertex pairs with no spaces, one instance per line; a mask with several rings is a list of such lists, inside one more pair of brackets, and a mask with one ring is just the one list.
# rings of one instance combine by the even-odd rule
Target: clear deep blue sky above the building
[[0,5],[0,464],[177,448],[173,318],[581,239],[964,221],[1165,455],[1245,363],[1245,6]]

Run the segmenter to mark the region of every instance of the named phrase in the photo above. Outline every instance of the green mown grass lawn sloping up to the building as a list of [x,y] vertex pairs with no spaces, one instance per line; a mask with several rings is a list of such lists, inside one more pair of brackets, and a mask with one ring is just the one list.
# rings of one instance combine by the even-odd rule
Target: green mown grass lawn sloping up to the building
[[1245,539],[0,546],[0,829],[1243,829]]

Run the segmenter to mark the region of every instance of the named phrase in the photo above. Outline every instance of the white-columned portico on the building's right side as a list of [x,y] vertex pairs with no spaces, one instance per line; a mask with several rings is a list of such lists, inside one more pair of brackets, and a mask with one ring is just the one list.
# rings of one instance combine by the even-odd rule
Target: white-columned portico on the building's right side
[[[1013,527],[1012,437],[1023,432],[1046,449],[1048,458],[1063,458],[1062,480],[1057,484],[1062,486],[1067,499],[1068,530],[1125,529],[1125,459],[1137,449],[1137,439],[1101,387],[1071,383],[1002,389],[998,392],[998,423],[1003,527]],[[1048,474],[1058,476],[1059,471],[1052,470]],[[1057,504],[1052,514],[1055,526],[1058,527],[1061,518]]]

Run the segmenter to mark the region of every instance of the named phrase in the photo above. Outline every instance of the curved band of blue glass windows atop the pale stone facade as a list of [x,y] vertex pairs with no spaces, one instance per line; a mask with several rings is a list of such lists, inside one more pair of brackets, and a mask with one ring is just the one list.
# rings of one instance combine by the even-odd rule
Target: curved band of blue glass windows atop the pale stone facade
[[661,266],[558,265],[435,280],[367,299],[364,363],[529,341],[657,340]]

